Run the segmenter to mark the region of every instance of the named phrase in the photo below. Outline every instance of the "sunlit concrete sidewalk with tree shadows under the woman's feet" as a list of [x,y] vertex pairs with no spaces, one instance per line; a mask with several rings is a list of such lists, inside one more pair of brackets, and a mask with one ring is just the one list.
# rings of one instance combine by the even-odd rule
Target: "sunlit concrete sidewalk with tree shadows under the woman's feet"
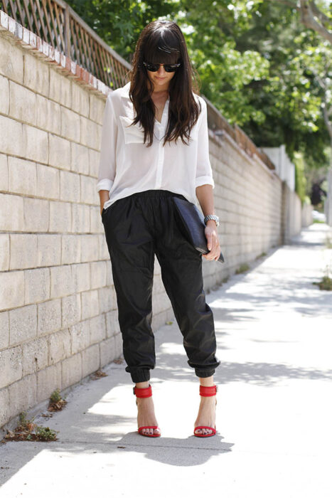
[[[331,498],[331,228],[314,224],[208,294],[221,365],[218,435],[195,438],[198,383],[176,322],[156,333],[161,438],[136,433],[124,365],[88,381],[52,418],[53,443],[0,445],[0,497]],[[211,263],[214,264],[214,263]]]

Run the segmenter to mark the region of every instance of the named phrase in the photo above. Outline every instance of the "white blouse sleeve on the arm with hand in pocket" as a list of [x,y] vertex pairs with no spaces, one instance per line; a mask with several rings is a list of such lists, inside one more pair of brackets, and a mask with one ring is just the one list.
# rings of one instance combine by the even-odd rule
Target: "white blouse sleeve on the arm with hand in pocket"
[[102,140],[100,145],[100,164],[97,191],[110,190],[114,183],[117,152],[117,121],[115,119],[112,92],[107,96],[102,122]]

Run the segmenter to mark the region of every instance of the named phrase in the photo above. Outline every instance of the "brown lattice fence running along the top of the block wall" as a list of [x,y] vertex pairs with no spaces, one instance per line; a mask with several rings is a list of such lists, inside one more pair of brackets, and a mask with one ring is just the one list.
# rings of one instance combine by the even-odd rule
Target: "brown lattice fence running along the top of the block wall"
[[[115,90],[129,81],[132,65],[112,50],[65,1],[1,0],[0,9],[109,88]],[[267,154],[240,127],[236,124],[232,127],[208,99],[205,102],[210,129],[216,134],[226,132],[250,157],[256,155],[269,169],[275,169]]]

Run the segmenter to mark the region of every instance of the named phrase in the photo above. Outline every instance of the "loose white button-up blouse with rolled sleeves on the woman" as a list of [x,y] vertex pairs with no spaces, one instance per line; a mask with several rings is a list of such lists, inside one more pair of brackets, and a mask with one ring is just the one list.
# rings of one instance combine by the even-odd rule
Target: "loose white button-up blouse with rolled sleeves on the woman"
[[[169,97],[161,122],[154,120],[154,141],[144,144],[144,129],[134,120],[134,106],[129,99],[130,82],[109,92],[102,124],[102,141],[97,191],[108,190],[106,209],[117,199],[150,189],[164,189],[182,194],[196,203],[196,187],[210,184],[215,188],[208,151],[206,102],[200,95],[202,112],[191,129],[189,145],[177,144],[163,137],[168,120]],[[186,139],[185,139],[186,140]]]

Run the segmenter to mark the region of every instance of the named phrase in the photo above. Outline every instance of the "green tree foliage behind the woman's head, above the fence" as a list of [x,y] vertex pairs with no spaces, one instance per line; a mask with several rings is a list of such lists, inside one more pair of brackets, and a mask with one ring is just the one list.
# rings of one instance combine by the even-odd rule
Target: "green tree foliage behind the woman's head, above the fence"
[[291,159],[299,151],[310,166],[327,164],[326,93],[314,72],[323,66],[323,41],[304,28],[296,9],[264,0],[68,3],[129,62],[146,23],[173,19],[186,38],[201,92],[230,123],[239,124],[259,146],[286,144]]

